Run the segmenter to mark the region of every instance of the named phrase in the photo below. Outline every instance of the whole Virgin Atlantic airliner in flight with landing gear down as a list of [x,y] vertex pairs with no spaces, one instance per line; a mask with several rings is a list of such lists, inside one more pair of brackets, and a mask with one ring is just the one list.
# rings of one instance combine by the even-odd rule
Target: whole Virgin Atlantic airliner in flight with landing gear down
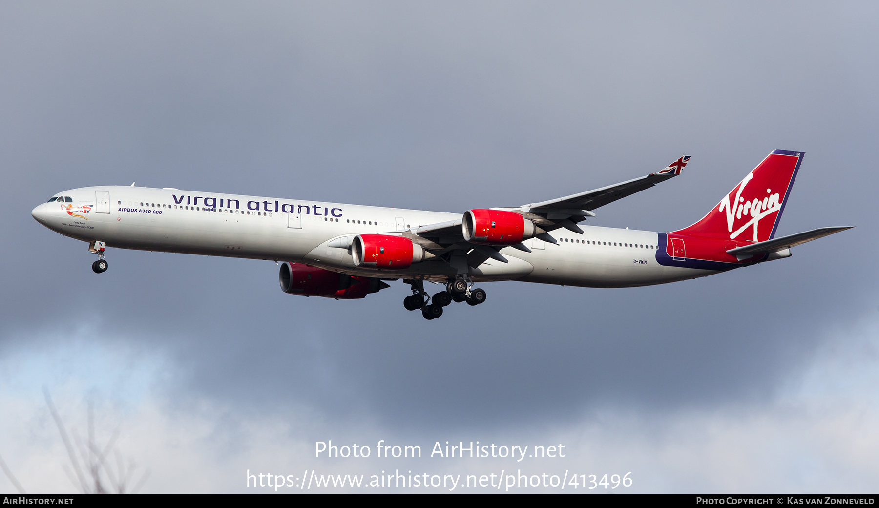
[[[580,223],[678,176],[690,156],[592,191],[463,214],[134,184],[59,192],[31,214],[89,243],[96,273],[107,269],[108,247],[267,259],[280,265],[287,294],[360,299],[403,279],[411,288],[403,306],[431,320],[453,301],[483,303],[476,282],[639,287],[788,258],[796,245],[850,229],[775,237],[803,155],[774,150],[701,220],[669,233]],[[445,289],[429,295],[425,281]]]

